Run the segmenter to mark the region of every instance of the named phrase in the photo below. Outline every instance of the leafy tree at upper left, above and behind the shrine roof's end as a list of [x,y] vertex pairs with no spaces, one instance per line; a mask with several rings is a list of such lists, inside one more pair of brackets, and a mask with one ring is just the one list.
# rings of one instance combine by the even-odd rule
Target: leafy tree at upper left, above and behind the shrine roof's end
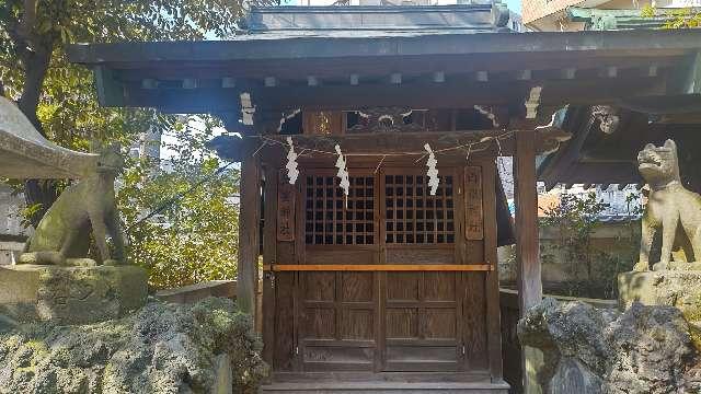
[[[135,112],[99,108],[90,72],[68,63],[66,45],[227,37],[241,15],[241,0],[3,0],[0,94],[15,99],[59,144],[85,149],[88,138],[124,138],[141,128],[126,116]],[[41,204],[32,218],[37,224],[57,196],[56,184],[30,181],[25,192],[30,206]]]

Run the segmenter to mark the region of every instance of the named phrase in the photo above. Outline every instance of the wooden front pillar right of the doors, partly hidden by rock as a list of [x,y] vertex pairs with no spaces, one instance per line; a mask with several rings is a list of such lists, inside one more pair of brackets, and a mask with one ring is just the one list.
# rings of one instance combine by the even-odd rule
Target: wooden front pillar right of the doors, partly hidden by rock
[[[542,299],[536,182],[536,132],[532,130],[517,131],[514,157],[514,195],[516,201],[518,301],[521,317],[528,309]],[[540,351],[524,347],[521,368],[524,392],[527,394],[540,393],[536,374],[541,362]]]

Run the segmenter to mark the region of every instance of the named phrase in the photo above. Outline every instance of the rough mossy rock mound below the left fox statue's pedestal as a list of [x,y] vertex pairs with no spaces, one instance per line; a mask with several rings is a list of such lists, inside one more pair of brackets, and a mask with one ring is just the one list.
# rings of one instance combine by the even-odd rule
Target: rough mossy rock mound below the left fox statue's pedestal
[[252,393],[267,373],[250,316],[227,299],[151,302],[91,325],[4,328],[0,393]]

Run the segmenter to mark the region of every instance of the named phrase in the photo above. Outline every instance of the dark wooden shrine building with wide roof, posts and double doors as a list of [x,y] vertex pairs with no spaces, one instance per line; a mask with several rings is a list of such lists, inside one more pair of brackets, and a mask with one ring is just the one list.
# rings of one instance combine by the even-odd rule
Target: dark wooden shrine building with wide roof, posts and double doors
[[242,136],[214,146],[241,161],[238,297],[254,311],[263,278],[263,391],[506,393],[496,157],[515,158],[526,310],[541,298],[536,157],[571,137],[553,114],[701,104],[701,31],[508,21],[499,3],[280,7],[231,40],[70,48],[103,105],[209,113]]

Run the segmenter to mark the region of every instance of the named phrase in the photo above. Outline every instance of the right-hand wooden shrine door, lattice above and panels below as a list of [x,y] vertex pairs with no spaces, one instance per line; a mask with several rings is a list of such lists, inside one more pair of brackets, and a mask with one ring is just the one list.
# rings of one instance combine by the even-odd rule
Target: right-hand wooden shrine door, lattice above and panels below
[[[430,195],[416,170],[382,174],[381,256],[384,264],[460,264],[456,201],[459,179],[443,170]],[[451,271],[383,273],[381,276],[384,371],[458,371],[462,363],[462,288]]]

